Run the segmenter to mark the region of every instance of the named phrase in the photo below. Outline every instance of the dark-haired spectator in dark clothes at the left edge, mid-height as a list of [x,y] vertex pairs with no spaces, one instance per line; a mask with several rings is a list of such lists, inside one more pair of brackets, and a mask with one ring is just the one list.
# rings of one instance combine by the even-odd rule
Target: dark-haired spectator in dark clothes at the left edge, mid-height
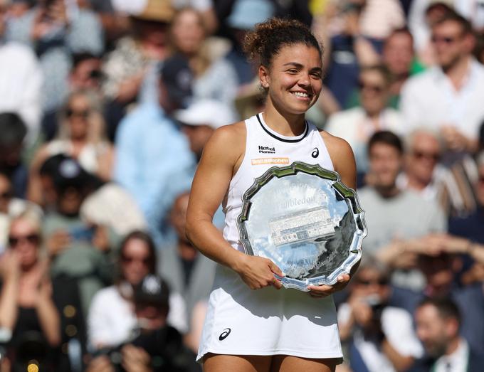
[[23,164],[26,124],[13,112],[0,113],[0,170],[9,177],[14,196],[24,198],[27,191],[28,169]]

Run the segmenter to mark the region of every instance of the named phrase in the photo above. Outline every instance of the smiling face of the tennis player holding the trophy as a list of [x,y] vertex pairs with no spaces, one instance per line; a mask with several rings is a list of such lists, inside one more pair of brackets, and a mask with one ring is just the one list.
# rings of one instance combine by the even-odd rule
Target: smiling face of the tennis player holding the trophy
[[322,88],[320,53],[312,46],[283,46],[273,57],[270,70],[261,66],[259,78],[268,98],[279,112],[305,113],[315,104]]

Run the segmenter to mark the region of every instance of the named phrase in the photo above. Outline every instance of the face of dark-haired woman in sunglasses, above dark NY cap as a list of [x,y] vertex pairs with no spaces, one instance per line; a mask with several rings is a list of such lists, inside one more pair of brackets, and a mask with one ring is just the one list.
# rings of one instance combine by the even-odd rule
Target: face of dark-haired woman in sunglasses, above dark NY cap
[[131,285],[140,283],[149,274],[149,258],[149,248],[143,240],[128,240],[121,254],[121,271],[125,280]]

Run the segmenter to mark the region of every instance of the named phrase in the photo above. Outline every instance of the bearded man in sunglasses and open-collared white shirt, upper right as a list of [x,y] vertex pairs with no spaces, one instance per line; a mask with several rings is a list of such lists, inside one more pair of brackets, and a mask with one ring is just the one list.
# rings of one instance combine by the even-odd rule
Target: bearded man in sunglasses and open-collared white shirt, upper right
[[432,26],[437,65],[404,85],[401,110],[409,127],[441,133],[451,152],[474,152],[484,118],[484,67],[472,56],[475,38],[467,19],[448,14]]

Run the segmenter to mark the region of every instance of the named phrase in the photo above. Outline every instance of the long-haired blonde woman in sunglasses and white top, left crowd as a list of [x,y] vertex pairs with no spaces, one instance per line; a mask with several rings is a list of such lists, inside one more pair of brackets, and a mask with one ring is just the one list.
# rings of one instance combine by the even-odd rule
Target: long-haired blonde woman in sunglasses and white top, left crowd
[[76,159],[83,169],[109,181],[112,176],[114,148],[105,139],[104,120],[95,93],[74,92],[70,95],[56,139],[47,142],[31,164],[28,198],[41,203],[38,169],[48,157],[64,154]]

